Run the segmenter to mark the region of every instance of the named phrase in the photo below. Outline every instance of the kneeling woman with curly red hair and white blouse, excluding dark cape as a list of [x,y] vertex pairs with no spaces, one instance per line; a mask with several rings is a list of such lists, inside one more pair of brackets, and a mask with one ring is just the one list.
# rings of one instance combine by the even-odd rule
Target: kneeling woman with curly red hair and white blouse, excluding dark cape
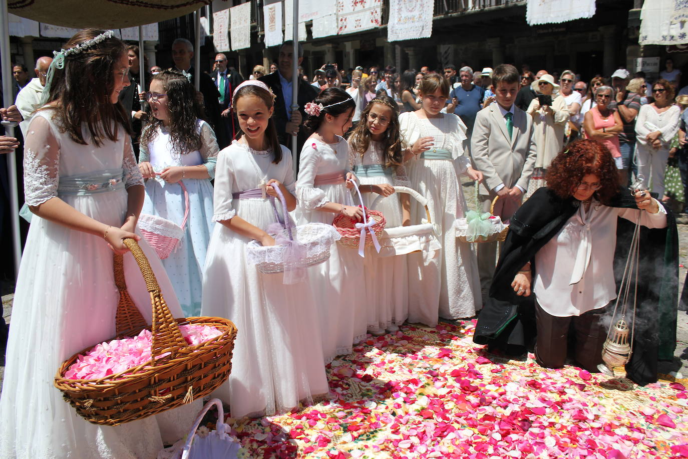
[[[528,261],[519,269],[511,286],[516,295],[527,297],[531,288],[535,294],[535,358],[539,365],[563,367],[572,328],[577,365],[597,371],[606,337],[601,319],[608,309],[605,306],[616,298],[617,217],[635,222],[639,214],[643,226],[665,228],[667,216],[663,206],[642,190],[634,195],[637,209],[610,206],[618,180],[608,149],[594,140],[579,140],[566,148],[550,164],[544,192],[572,200],[575,210],[535,252],[533,266]],[[535,195],[533,198],[537,206]],[[539,211],[530,209],[529,202],[514,218],[528,218]]]

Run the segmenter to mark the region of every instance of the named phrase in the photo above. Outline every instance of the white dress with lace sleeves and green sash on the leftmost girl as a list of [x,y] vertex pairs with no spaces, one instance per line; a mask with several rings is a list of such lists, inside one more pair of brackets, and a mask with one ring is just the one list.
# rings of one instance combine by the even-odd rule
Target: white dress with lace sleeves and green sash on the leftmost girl
[[[60,198],[89,217],[119,227],[127,190],[142,185],[129,136],[96,147],[61,133],[51,111],[32,120],[24,154],[29,206]],[[174,317],[182,313],[160,260],[144,240],[162,295]],[[151,323],[151,297],[131,253],[127,290]],[[113,253],[103,237],[74,231],[34,215],[19,268],[0,399],[0,458],[155,458],[163,442],[186,433],[200,401],[131,423],[98,426],[77,416],[53,385],[58,367],[76,352],[115,336],[118,290]]]

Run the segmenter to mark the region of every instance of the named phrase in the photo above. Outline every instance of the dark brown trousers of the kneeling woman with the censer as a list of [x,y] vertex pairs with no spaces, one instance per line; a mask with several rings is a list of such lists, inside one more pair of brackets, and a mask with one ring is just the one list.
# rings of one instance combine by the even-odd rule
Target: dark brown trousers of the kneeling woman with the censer
[[579,316],[556,317],[535,305],[537,340],[535,360],[541,367],[561,368],[568,354],[569,330],[574,336],[574,360],[581,368],[597,372],[602,363],[602,345],[607,339],[603,317],[609,306],[585,312]]

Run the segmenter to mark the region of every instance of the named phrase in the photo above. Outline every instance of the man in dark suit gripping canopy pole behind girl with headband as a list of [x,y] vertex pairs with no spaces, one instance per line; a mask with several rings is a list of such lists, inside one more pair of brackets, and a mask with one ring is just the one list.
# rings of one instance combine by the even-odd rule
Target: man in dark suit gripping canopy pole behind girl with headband
[[[297,43],[297,58],[299,64],[303,61],[303,48]],[[272,115],[275,118],[275,127],[277,127],[277,136],[279,143],[292,149],[292,136],[297,136],[297,151],[292,151],[292,157],[295,161],[299,160],[299,153],[301,147],[305,143],[308,134],[303,129],[303,121],[305,121],[306,114],[303,107],[309,102],[312,102],[317,96],[314,87],[299,78],[299,96],[297,104],[299,109],[292,111],[292,73],[294,65],[294,42],[289,40],[282,43],[279,48],[279,58],[277,60],[277,72],[261,76],[260,81],[268,85],[272,92],[275,93],[275,113]]]

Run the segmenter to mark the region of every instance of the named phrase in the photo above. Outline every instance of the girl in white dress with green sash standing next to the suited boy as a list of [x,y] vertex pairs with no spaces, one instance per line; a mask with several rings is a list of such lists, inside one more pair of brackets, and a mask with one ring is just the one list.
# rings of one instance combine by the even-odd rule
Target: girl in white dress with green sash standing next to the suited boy
[[[440,110],[449,97],[449,83],[430,74],[420,83],[422,107],[399,116],[402,135],[415,158],[407,162],[411,188],[429,198],[431,217],[439,228],[442,243],[439,253],[439,279],[432,266],[422,266],[420,254],[409,256],[409,309],[424,308],[426,317],[445,319],[472,317],[481,306],[477,260],[471,244],[458,242],[453,228],[464,217],[466,200],[459,175],[482,180],[482,173],[471,167],[464,150],[466,126],[455,114]],[[424,209],[411,203],[411,217],[419,218]],[[424,274],[429,273],[429,279]],[[418,275],[416,275],[418,273]],[[438,310],[439,307],[439,310]]]

